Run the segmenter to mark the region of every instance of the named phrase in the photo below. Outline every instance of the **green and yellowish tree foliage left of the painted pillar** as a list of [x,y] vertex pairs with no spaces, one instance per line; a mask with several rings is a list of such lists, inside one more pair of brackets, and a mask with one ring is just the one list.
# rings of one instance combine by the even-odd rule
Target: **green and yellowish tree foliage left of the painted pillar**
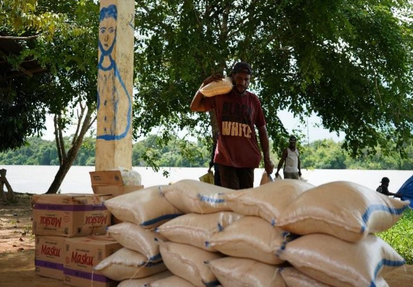
[[22,52],[8,56],[18,68],[35,59],[41,76],[0,77],[0,151],[17,148],[27,137],[41,135],[46,112],[61,114],[61,128],[76,120],[75,107],[96,104],[96,1],[0,1],[0,36],[16,38]]

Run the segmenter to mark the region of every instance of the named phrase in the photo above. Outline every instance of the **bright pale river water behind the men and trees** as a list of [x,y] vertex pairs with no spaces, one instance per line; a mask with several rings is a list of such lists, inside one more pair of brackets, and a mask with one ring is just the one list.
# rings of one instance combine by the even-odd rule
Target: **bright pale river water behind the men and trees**
[[[34,194],[45,193],[56,175],[58,166],[42,165],[0,165],[7,170],[7,180],[15,192]],[[195,179],[207,173],[207,168],[161,168],[154,172],[151,168],[135,167],[134,170],[142,177],[142,185],[168,184],[181,179]],[[92,193],[89,172],[93,166],[72,166],[60,189],[61,193]],[[162,171],[168,171],[170,176],[163,177]],[[254,186],[258,186],[263,169],[255,169]],[[282,175],[282,170],[280,172]],[[398,170],[302,170],[302,177],[314,185],[330,181],[346,180],[359,183],[371,189],[380,185],[382,177],[390,178],[390,192],[397,192],[400,186],[413,175],[413,171]]]

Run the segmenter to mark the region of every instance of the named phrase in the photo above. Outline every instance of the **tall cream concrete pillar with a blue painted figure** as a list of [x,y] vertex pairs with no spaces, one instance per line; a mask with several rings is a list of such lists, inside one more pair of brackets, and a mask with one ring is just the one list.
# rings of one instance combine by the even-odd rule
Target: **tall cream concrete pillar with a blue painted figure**
[[134,0],[101,0],[96,171],[132,168]]

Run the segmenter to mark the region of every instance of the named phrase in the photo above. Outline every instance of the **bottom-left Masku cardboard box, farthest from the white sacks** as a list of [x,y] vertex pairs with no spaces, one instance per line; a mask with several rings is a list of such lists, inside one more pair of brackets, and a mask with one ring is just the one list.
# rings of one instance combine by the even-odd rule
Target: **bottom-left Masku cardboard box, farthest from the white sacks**
[[37,275],[63,280],[65,237],[36,235],[34,269]]

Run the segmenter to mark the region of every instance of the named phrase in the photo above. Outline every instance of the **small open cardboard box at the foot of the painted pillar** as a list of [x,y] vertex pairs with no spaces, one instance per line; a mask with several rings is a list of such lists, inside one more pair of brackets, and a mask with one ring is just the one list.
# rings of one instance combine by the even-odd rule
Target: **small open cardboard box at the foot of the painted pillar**
[[94,194],[111,194],[114,197],[143,188],[143,185],[124,185],[120,171],[89,172]]

